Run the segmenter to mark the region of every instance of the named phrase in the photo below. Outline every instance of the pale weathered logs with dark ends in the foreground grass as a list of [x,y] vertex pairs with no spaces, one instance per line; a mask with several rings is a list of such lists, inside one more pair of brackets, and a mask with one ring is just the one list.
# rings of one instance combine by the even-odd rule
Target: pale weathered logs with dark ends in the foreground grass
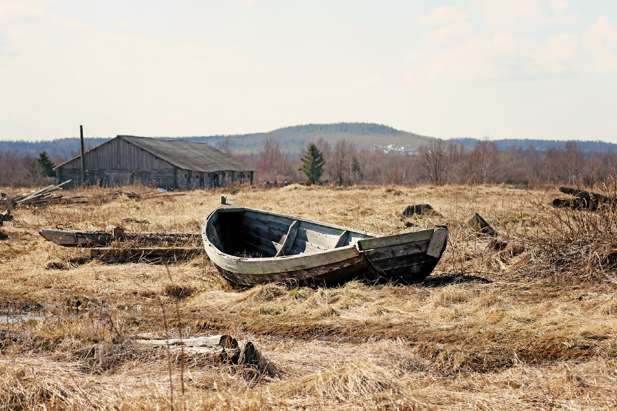
[[238,341],[230,335],[211,335],[190,338],[143,338],[138,336],[133,341],[155,347],[184,349],[186,352],[205,354],[214,362],[226,364],[257,365],[259,352],[251,341]]

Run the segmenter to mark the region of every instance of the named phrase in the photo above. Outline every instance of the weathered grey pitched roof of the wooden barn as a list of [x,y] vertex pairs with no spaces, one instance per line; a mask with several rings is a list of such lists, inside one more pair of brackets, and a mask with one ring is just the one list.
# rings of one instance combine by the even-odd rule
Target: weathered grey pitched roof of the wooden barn
[[[153,139],[152,137],[136,136],[117,136],[116,138],[126,140],[130,144],[136,145],[140,149],[144,149],[152,155],[159,157],[161,160],[184,170],[199,171],[201,173],[212,173],[214,171],[255,171],[211,145],[201,142],[180,139],[161,140]],[[96,150],[97,147],[88,151]],[[79,156],[75,158],[79,158]],[[59,168],[75,160],[75,158],[65,161],[65,163],[54,168]]]

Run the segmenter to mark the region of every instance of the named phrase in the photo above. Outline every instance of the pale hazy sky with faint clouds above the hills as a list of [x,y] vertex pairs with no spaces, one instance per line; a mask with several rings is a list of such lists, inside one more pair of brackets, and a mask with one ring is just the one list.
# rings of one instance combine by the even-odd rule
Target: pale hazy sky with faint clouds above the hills
[[344,121],[617,142],[617,2],[0,1],[0,140]]

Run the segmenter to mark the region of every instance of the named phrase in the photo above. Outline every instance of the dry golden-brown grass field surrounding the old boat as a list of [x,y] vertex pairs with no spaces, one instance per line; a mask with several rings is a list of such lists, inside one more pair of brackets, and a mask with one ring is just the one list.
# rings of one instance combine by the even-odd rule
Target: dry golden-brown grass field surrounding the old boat
[[[205,256],[111,264],[37,232],[199,232],[221,195],[384,235],[447,224],[449,245],[419,285],[236,291]],[[615,410],[617,210],[556,210],[557,195],[290,185],[15,210],[0,229],[0,304],[34,313],[2,317],[0,410]],[[437,213],[402,218],[415,203]],[[476,211],[497,240],[468,227]],[[262,364],[139,346],[139,333],[227,333],[253,341]]]

